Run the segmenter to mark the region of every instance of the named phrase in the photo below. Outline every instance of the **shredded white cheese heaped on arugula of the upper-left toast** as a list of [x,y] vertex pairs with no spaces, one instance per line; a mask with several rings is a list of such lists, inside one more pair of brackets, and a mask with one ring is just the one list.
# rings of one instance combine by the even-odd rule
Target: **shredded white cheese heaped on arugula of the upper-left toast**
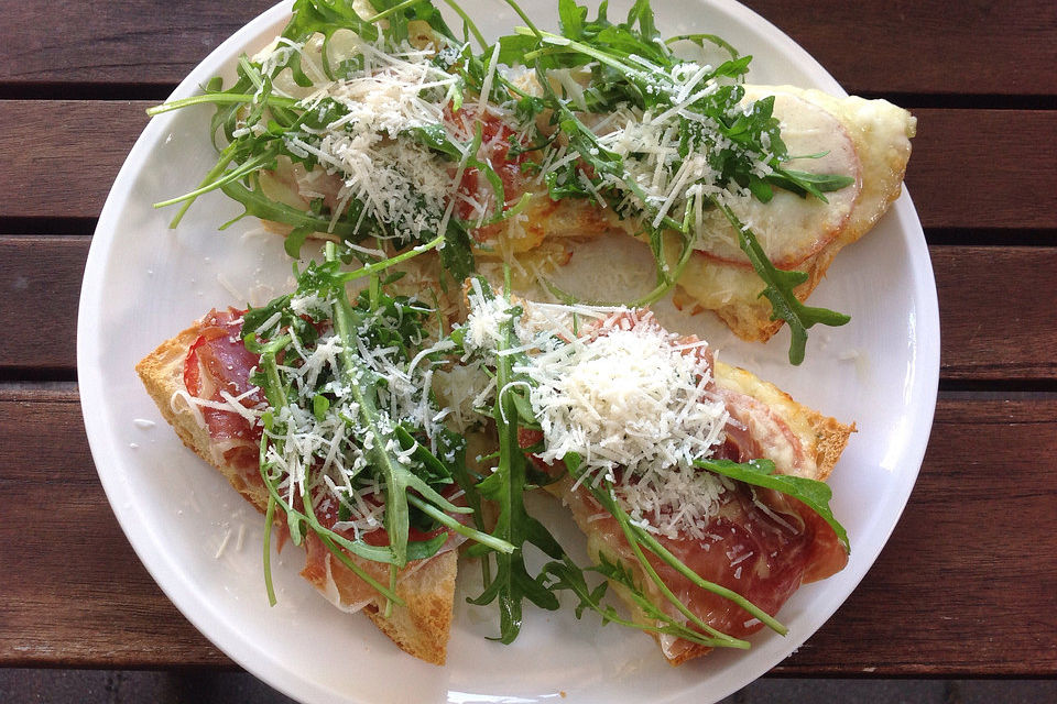
[[[298,96],[301,108],[318,110],[324,117],[337,106],[338,117],[322,130],[303,125],[284,135],[292,154],[315,158],[338,186],[336,191],[333,187],[313,189],[305,182],[299,184],[301,195],[333,199],[327,204],[335,216],[331,228],[355,198],[363,206],[357,227],[370,219],[381,226],[385,238],[403,240],[440,231],[457,184],[447,162],[407,132],[444,129],[444,97],[457,76],[433,63],[432,51],[410,45],[382,51],[352,33],[345,35],[342,43],[348,45],[347,53],[362,61],[362,70],[329,80],[322,69],[306,68],[306,75],[316,80],[307,95]],[[320,50],[312,41],[308,45],[286,44],[262,55],[264,69],[274,70],[291,51],[302,53],[303,68],[320,61]],[[279,88],[275,91],[282,94]]]

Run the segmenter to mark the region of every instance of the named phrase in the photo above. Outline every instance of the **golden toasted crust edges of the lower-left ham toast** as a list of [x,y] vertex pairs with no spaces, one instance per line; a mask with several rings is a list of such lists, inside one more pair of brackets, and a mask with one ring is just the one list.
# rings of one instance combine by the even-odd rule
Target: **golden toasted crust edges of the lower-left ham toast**
[[[176,435],[203,460],[220,472],[248,502],[261,512],[268,507],[268,491],[258,484],[247,483],[239,472],[226,464],[210,440],[209,431],[201,426],[185,402],[173,397],[184,386],[184,361],[190,345],[198,339],[201,321],[166,340],[135,365],[146,392],[157,405],[162,417]],[[356,556],[351,558],[362,568],[375,563]],[[406,652],[435,664],[444,664],[448,637],[451,630],[451,614],[455,602],[455,575],[458,553],[448,550],[428,560],[408,563],[397,575],[396,593],[405,606],[394,606],[386,618],[383,615],[385,600],[360,580],[338,560],[328,557],[329,574],[306,570],[306,580],[329,601],[342,609],[363,605],[364,613],[378,628]],[[329,580],[327,578],[330,578]]]

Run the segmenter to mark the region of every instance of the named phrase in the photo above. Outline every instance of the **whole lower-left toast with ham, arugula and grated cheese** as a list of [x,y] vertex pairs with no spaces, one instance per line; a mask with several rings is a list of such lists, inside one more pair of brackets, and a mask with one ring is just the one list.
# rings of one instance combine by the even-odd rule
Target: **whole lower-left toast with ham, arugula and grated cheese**
[[265,514],[265,540],[274,525],[280,546],[304,547],[314,587],[440,664],[456,549],[467,538],[512,548],[466,525],[466,440],[431,382],[450,348],[436,311],[377,279],[350,300],[358,274],[341,271],[333,244],[326,254],[295,292],[210,311],[137,372],[184,444]]

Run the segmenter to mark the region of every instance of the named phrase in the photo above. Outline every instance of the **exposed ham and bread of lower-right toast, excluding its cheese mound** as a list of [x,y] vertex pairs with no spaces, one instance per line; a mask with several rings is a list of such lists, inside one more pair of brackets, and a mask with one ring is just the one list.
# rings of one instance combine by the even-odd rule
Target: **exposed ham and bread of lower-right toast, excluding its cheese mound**
[[[713,373],[715,388],[732,419],[728,439],[713,457],[771,460],[776,472],[787,476],[824,481],[829,475],[852,427],[797,404],[744,370],[717,362]],[[644,506],[655,512],[646,521],[652,519],[661,525],[657,540],[699,576],[737,592],[775,616],[800,584],[831,576],[847,563],[846,549],[836,532],[799,502],[706,475],[705,471],[693,479],[676,475],[668,479],[667,486],[655,480],[649,486],[629,483],[624,496],[632,502],[629,505],[639,507],[640,514]],[[633,581],[643,587],[655,607],[678,616],[651,582],[615,519],[590,491],[569,476],[548,486],[548,491],[573,513],[587,536],[592,561],[622,565],[634,575]],[[686,513],[673,518],[679,510]],[[695,585],[655,558],[652,561],[667,588],[709,626],[742,639],[764,628],[759,618],[737,603]],[[656,626],[624,585],[611,585],[634,620]],[[712,649],[656,631],[651,635],[673,666]]]

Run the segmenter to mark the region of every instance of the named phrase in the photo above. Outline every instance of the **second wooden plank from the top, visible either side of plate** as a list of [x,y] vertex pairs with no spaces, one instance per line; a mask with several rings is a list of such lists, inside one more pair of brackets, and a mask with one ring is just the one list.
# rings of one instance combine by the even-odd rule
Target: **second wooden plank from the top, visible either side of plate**
[[[98,217],[151,105],[0,101],[0,218]],[[1044,207],[1057,162],[1039,148],[1057,141],[1057,112],[915,112],[907,185],[926,228],[1057,228],[1057,210]],[[187,189],[198,179],[188,174]]]

